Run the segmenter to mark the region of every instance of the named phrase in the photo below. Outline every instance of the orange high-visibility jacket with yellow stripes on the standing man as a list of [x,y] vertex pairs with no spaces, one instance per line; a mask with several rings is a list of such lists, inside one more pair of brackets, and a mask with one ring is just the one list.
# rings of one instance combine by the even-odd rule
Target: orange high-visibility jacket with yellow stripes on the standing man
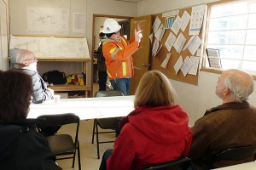
[[131,54],[137,51],[139,44],[136,41],[128,44],[125,37],[120,36],[120,38],[121,42],[109,39],[109,41],[107,40],[102,44],[109,80],[132,77],[134,75]]

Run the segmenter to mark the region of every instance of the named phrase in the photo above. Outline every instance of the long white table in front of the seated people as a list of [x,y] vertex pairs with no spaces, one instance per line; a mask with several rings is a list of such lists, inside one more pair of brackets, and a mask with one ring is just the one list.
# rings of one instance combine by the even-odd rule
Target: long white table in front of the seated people
[[27,118],[41,115],[73,113],[81,120],[127,116],[134,110],[134,95],[100,98],[61,99],[55,104],[53,99],[43,104],[30,105]]

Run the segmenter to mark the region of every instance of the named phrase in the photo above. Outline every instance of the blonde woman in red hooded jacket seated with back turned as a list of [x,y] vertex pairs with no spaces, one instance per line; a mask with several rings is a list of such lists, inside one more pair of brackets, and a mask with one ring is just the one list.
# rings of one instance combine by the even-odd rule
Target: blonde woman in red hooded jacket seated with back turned
[[137,87],[136,109],[122,119],[121,133],[113,150],[104,153],[100,170],[140,170],[186,157],[192,132],[187,114],[175,105],[174,98],[175,91],[164,74],[146,72]]

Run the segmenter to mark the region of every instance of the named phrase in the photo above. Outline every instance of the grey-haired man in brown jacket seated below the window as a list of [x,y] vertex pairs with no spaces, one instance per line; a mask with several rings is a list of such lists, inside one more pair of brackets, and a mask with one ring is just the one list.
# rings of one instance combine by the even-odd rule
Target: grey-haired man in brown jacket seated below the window
[[218,77],[216,95],[222,105],[207,110],[192,127],[189,158],[196,169],[254,161],[254,156],[240,161],[211,161],[211,156],[219,150],[256,144],[256,108],[247,102],[252,93],[253,77],[245,71],[231,69]]

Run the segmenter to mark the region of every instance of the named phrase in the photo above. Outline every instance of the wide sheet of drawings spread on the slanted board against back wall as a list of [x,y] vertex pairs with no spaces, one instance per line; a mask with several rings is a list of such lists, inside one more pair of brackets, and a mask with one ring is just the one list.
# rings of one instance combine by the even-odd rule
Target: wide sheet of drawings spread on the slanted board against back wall
[[90,58],[86,37],[64,38],[11,36],[9,48],[30,50],[38,58]]

